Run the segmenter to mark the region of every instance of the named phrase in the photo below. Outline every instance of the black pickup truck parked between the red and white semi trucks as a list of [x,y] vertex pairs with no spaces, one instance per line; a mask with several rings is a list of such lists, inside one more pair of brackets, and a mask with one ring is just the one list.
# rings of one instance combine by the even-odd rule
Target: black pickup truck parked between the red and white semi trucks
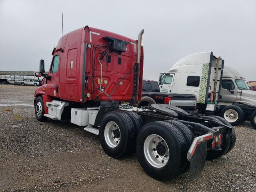
[[186,110],[190,114],[196,115],[196,96],[192,94],[162,93],[157,81],[142,81],[142,98],[136,104],[137,107],[148,106],[150,104],[169,104]]

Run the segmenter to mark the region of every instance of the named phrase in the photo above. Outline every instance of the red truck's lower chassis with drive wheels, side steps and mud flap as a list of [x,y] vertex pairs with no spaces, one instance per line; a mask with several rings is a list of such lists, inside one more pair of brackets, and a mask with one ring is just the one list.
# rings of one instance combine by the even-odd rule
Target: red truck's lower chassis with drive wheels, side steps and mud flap
[[[69,108],[71,122],[81,126],[80,122],[87,119],[84,130],[99,135],[106,154],[121,158],[136,151],[144,171],[156,180],[169,180],[188,170],[192,180],[206,160],[223,156],[236,142],[232,126],[223,118],[196,117],[167,104],[152,104],[143,109],[123,109],[113,101],[100,102],[100,107],[94,108],[72,105],[60,100],[46,102],[48,114],[38,120],[61,120],[62,112]],[[36,116],[40,107],[44,110],[42,98],[38,97]],[[79,116],[80,112],[85,114]]]

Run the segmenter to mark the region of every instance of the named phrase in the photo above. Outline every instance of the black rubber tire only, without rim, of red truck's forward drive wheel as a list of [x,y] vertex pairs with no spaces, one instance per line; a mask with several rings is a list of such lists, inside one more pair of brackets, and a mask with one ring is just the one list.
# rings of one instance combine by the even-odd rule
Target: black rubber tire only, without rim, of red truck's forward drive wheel
[[[120,141],[117,146],[111,147],[106,142],[104,131],[108,122],[115,122],[119,128]],[[108,112],[103,118],[100,124],[100,144],[104,152],[113,157],[120,158],[126,156],[134,150],[135,136],[134,126],[131,118],[125,112]]]

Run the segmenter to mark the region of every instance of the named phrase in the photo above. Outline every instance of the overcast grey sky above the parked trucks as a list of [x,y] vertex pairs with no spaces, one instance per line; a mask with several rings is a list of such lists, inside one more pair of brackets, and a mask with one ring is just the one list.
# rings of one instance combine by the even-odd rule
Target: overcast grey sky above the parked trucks
[[256,0],[0,0],[0,71],[49,69],[63,33],[86,25],[132,39],[144,28],[144,78],[212,51],[256,80]]

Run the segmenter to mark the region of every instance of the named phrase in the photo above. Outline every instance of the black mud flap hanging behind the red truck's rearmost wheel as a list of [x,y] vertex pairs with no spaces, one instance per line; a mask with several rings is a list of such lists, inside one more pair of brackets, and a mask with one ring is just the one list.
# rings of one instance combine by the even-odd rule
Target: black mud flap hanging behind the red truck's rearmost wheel
[[194,180],[196,176],[203,170],[206,161],[207,146],[206,142],[197,145],[196,150],[190,160],[190,181]]

